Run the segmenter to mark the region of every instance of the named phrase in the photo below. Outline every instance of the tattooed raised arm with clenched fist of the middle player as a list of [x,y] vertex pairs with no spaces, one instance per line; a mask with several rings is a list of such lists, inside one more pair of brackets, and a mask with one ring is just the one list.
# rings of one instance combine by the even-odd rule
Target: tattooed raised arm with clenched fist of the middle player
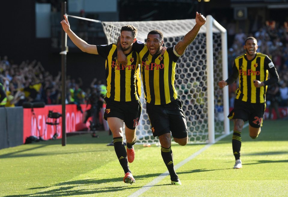
[[206,18],[201,15],[200,13],[196,12],[196,25],[193,27],[192,30],[190,30],[182,40],[180,40],[176,46],[175,46],[175,51],[177,52],[178,55],[183,55],[187,46],[193,42],[193,40],[196,38],[200,28],[202,25],[205,24]]

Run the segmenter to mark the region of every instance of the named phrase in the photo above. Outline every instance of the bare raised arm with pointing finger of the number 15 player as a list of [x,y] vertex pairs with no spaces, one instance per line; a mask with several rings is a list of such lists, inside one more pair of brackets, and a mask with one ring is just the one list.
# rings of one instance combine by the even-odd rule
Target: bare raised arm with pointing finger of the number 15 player
[[71,29],[70,24],[67,19],[67,16],[64,15],[65,20],[62,20],[60,23],[62,25],[63,30],[67,33],[72,42],[81,49],[81,51],[90,53],[90,54],[98,54],[96,45],[89,45],[87,42],[79,38]]

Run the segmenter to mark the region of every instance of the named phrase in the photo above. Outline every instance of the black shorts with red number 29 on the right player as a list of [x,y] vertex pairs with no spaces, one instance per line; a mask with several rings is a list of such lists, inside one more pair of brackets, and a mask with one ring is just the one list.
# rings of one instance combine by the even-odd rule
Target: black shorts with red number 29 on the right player
[[228,115],[229,119],[241,119],[247,121],[252,127],[262,126],[265,103],[247,103],[235,99],[234,109]]

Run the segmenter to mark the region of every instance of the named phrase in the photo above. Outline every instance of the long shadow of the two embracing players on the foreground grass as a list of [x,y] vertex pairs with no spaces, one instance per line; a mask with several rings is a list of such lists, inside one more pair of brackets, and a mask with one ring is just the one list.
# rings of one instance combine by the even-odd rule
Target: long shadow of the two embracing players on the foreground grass
[[[55,184],[51,187],[56,187],[53,189],[49,189],[51,187],[33,187],[29,188],[29,190],[35,190],[35,189],[47,189],[47,191],[41,191],[37,193],[31,193],[31,194],[24,194],[24,195],[9,195],[6,197],[20,197],[20,196],[74,196],[74,195],[89,195],[89,194],[97,194],[97,193],[107,193],[107,192],[117,192],[117,191],[123,191],[127,190],[127,195],[131,193],[131,188],[142,188],[144,186],[137,186],[137,180],[141,180],[147,177],[157,177],[161,174],[159,173],[154,173],[154,174],[146,174],[146,175],[139,175],[135,176],[136,183],[135,184],[125,184],[124,182],[122,183],[123,186],[120,185],[120,182],[122,182],[123,177],[118,177],[118,178],[107,178],[107,179],[84,179],[84,180],[77,180],[77,181],[66,181],[62,182],[59,184]],[[162,175],[166,176],[168,174]],[[115,187],[94,187],[93,185],[97,184],[103,184],[103,183],[111,183],[111,182],[119,182],[119,184]],[[163,185],[170,185],[170,184],[156,184],[153,187],[159,187]],[[85,187],[85,189],[77,189],[78,187]],[[86,189],[89,187],[89,189]],[[148,186],[147,186],[148,187]]]

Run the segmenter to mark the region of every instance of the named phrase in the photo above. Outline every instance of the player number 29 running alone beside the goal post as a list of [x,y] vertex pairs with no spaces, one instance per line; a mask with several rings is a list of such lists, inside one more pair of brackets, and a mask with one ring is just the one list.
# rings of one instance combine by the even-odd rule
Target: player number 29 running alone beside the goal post
[[[242,167],[240,149],[244,122],[249,120],[250,137],[256,139],[261,132],[267,85],[279,81],[278,73],[271,59],[265,54],[256,52],[258,45],[254,37],[245,39],[244,49],[246,54],[235,58],[231,76],[226,81],[222,80],[218,83],[220,88],[223,88],[239,79],[234,109],[228,116],[229,119],[234,120],[232,136],[232,149],[235,156],[234,169]],[[268,74],[270,74],[269,79]]]

